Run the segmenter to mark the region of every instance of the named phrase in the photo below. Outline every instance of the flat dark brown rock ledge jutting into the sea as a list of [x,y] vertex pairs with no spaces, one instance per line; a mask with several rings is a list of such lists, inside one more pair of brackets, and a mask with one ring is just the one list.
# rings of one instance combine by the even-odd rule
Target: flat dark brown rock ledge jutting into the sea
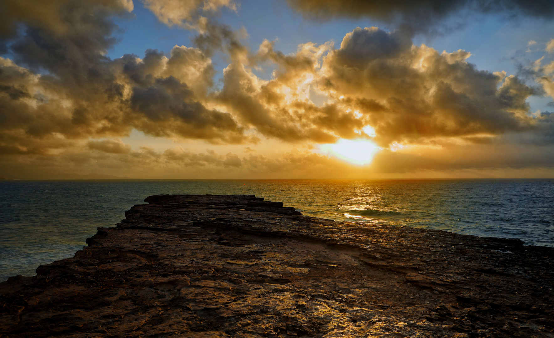
[[554,250],[157,195],[0,284],[0,337],[554,337]]

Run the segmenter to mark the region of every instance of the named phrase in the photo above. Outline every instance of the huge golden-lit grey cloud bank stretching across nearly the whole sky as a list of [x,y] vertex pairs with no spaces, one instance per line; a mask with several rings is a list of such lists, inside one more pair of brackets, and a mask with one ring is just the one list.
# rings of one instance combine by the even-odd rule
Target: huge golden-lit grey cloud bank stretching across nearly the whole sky
[[[232,6],[202,4],[206,11]],[[105,51],[115,42],[113,12],[79,2],[61,6],[60,13],[73,29],[52,33],[28,23],[12,44],[19,65],[0,62],[2,142],[27,149],[20,151],[48,152],[59,149],[60,140],[121,137],[132,129],[212,143],[257,142],[255,134],[332,143],[373,136],[365,132],[369,126],[386,146],[524,131],[534,123],[525,102],[531,87],[514,76],[476,70],[465,51],[439,54],[414,46],[401,31],[357,28],[339,49],[306,43],[290,55],[266,40],[254,54],[236,32],[209,19],[196,38],[201,48],[175,46],[167,56],[147,50],[142,59],[127,54],[111,60]],[[213,89],[215,71],[206,54],[214,48],[231,62],[220,91]],[[270,80],[252,70],[264,64],[276,67]],[[33,71],[40,69],[47,72]],[[315,105],[314,90],[330,100]]]

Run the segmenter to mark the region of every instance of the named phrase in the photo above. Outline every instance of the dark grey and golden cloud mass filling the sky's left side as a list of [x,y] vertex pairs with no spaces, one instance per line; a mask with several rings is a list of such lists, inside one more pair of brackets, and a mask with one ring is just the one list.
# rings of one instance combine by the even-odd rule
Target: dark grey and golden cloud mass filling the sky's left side
[[32,2],[2,2],[12,21],[0,33],[13,61],[0,59],[0,145],[51,152],[64,147],[60,139],[68,146],[133,128],[216,143],[252,140],[228,113],[206,108],[214,70],[201,50],[147,50],[142,60],[106,56],[116,43],[114,17],[126,15],[132,2],[41,3],[55,15],[39,20]]

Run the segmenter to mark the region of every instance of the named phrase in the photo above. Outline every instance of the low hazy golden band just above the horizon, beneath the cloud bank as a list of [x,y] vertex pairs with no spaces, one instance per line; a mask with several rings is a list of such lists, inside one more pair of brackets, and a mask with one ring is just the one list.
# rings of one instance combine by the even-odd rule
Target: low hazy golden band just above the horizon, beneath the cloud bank
[[[456,177],[464,171],[471,171],[470,177],[488,177],[489,172],[526,169],[531,174],[538,170],[544,177],[545,174],[554,175],[552,159],[552,145],[517,145],[498,140],[485,144],[411,145],[396,152],[385,149],[364,167],[297,149],[271,155],[240,156],[228,151],[206,149],[198,152],[182,147],[161,152],[142,147],[127,153],[75,148],[73,152],[59,155],[3,156],[0,157],[0,172],[23,179],[49,178],[48,173],[87,174],[90,171],[134,178],[347,179]],[[506,177],[506,174],[495,175]]]

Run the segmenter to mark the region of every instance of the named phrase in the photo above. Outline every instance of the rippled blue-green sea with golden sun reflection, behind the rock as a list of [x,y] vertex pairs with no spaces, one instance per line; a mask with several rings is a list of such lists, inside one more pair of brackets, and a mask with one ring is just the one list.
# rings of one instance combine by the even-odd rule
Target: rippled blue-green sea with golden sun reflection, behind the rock
[[307,216],[554,247],[554,180],[0,181],[0,282],[73,256],[155,194],[255,194]]

